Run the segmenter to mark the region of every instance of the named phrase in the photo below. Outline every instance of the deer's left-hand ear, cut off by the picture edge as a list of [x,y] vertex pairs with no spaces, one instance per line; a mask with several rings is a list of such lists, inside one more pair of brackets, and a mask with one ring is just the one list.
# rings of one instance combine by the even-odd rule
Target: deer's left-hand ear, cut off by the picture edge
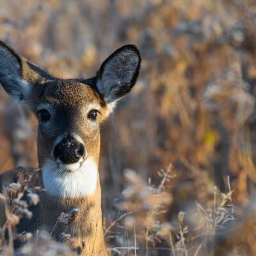
[[26,102],[36,83],[49,76],[0,41],[0,83],[14,99]]

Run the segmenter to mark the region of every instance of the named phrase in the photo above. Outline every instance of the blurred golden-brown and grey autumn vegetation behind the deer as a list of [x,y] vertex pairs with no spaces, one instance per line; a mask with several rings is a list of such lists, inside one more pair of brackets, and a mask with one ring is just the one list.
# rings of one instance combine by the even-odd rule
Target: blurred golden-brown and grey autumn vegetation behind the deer
[[[179,212],[195,202],[211,209],[228,192],[243,216],[256,180],[255,1],[1,0],[0,38],[62,78],[94,76],[124,44],[140,49],[138,82],[101,127],[106,223],[129,211],[119,202],[134,175],[155,188],[170,169],[157,223],[183,221]],[[37,166],[36,118],[3,88],[0,124],[0,173]],[[122,241],[109,236],[109,243],[133,242],[132,221],[123,223]]]

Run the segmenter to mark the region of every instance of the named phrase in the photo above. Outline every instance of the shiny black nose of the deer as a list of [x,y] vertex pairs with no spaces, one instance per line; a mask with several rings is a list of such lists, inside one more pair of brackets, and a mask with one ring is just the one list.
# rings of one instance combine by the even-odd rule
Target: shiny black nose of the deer
[[53,154],[55,159],[60,159],[64,164],[74,164],[84,157],[84,145],[67,135],[54,147]]

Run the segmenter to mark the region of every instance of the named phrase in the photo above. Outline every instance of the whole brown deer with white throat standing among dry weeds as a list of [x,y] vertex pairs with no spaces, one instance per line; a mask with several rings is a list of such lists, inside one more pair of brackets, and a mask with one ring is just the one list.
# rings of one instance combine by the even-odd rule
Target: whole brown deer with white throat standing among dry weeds
[[[72,249],[79,248],[80,254],[86,256],[111,255],[102,227],[100,124],[116,102],[131,91],[140,63],[138,48],[128,44],[113,52],[95,76],[61,79],[0,42],[0,83],[13,99],[29,106],[38,118],[40,172],[36,184],[44,189],[33,221],[20,220],[19,232],[35,232],[40,228],[50,232],[61,212],[79,209],[67,230],[74,237]],[[4,172],[0,176],[0,191],[15,179],[15,170]],[[52,237],[60,241],[62,231],[59,226],[54,228]]]

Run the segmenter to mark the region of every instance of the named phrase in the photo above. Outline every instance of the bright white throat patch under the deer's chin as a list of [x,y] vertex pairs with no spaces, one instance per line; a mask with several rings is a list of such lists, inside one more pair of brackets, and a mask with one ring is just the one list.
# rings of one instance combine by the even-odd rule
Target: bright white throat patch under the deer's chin
[[[68,164],[71,167],[72,164]],[[71,168],[69,168],[71,169]],[[72,172],[60,170],[56,161],[47,159],[42,168],[44,188],[50,195],[75,197],[92,195],[97,186],[97,164],[91,158]]]

